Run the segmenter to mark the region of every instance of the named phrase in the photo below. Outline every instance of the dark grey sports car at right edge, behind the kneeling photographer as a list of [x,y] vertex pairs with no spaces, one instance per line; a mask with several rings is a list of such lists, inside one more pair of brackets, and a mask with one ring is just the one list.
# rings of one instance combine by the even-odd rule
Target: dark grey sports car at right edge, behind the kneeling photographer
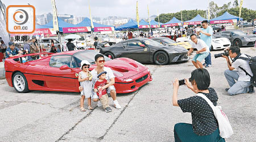
[[230,40],[232,45],[242,46],[253,46],[255,44],[255,35],[246,35],[241,30],[229,30],[213,34],[214,37],[226,37]]

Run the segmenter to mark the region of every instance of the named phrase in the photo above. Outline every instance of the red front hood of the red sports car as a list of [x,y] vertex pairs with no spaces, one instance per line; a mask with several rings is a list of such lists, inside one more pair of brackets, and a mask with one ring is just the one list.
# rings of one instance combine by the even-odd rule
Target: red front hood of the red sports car
[[[135,76],[147,69],[143,64],[128,58],[118,58],[105,62],[105,66],[113,70],[114,76],[121,79]],[[96,65],[92,65],[93,69]]]

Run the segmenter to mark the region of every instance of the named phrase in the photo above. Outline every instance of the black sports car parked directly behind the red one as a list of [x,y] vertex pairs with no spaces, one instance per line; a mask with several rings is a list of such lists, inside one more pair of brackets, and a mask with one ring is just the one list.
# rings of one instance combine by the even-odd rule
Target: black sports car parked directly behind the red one
[[100,47],[100,53],[111,59],[127,57],[139,62],[155,62],[158,65],[187,61],[187,52],[182,47],[162,45],[147,38],[129,39],[110,47]]

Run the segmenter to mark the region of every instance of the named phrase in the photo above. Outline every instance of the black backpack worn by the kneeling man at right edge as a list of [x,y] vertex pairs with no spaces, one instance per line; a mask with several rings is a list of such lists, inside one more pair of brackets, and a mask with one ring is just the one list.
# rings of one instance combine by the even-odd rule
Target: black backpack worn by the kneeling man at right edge
[[253,72],[253,76],[251,76],[249,73],[247,73],[246,70],[243,69],[241,66],[239,66],[239,68],[242,69],[246,75],[251,77],[251,85],[256,87],[256,56],[254,56],[254,57],[251,57],[249,55],[246,55],[246,56],[247,56],[247,58],[246,57],[238,57],[238,59],[246,60],[249,62],[249,66],[251,68],[251,72]]

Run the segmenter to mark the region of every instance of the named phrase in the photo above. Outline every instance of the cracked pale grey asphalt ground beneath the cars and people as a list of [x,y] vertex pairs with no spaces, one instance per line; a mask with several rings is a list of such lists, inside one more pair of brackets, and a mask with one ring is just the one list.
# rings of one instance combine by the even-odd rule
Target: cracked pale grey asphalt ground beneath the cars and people
[[[234,135],[226,141],[255,141],[256,93],[230,96],[224,77],[225,59],[214,59],[212,51],[211,83],[218,94],[218,105],[228,115]],[[242,53],[256,56],[254,47],[241,48]],[[0,67],[3,64],[0,64]],[[192,123],[191,114],[172,106],[172,81],[189,78],[195,67],[191,61],[158,66],[145,64],[153,81],[129,94],[118,94],[122,109],[104,112],[92,103],[93,110],[79,110],[80,95],[55,91],[17,93],[0,80],[0,141],[174,141],[176,123]],[[178,98],[195,95],[180,86]],[[85,101],[85,107],[87,101]]]

